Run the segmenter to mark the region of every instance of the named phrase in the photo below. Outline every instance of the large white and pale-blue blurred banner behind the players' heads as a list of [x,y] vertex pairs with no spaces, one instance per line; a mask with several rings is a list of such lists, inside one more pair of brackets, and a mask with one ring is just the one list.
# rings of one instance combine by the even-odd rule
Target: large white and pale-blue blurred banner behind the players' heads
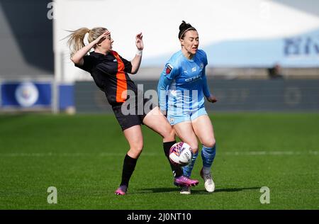
[[63,82],[91,80],[70,62],[62,40],[68,35],[65,30],[104,26],[111,30],[113,49],[128,60],[135,55],[135,35],[142,32],[141,66],[163,67],[180,49],[182,20],[198,30],[208,66],[269,67],[280,62],[319,67],[319,17],[276,1],[56,0],[50,9],[55,18],[55,73]]

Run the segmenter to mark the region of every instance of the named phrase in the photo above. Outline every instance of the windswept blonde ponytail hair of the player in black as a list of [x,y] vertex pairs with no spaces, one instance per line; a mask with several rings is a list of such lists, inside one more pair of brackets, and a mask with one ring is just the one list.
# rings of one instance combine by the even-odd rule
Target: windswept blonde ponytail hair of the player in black
[[69,40],[67,40],[67,45],[69,45],[69,49],[71,50],[71,57],[85,46],[84,37],[86,33],[89,33],[88,41],[91,43],[106,31],[107,29],[103,27],[96,27],[91,30],[89,28],[79,28],[74,31],[69,31],[72,33],[67,36],[67,38],[69,38]]

